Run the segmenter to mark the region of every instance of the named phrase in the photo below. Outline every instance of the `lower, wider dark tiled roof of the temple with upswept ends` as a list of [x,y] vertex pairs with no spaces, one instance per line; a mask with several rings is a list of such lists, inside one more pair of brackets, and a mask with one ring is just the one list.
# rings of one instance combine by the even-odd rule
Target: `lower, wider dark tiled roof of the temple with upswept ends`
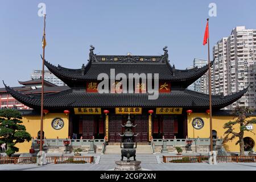
[[[6,86],[6,85],[5,85]],[[247,92],[243,89],[230,96],[213,96],[213,109],[221,109],[237,101]],[[16,100],[24,105],[39,109],[41,104],[40,95],[22,94],[6,86],[9,92]],[[59,93],[45,94],[44,108],[73,108],[73,107],[118,107],[118,106],[142,106],[142,107],[188,107],[203,109],[209,107],[209,95],[184,90],[171,93],[159,93],[157,100],[148,100],[147,93],[86,93],[68,89]]]

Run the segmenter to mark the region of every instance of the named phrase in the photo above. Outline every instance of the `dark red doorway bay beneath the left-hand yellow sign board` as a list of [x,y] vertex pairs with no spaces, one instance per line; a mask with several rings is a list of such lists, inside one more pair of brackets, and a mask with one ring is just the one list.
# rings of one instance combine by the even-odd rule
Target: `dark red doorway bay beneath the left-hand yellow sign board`
[[103,139],[104,128],[102,115],[75,115],[72,117],[70,135],[76,136],[77,139]]

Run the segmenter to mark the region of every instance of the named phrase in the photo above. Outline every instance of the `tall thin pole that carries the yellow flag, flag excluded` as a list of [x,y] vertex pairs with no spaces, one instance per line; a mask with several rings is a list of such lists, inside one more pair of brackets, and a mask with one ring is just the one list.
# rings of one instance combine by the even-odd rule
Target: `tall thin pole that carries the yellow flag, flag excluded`
[[[44,32],[43,39],[46,38],[46,14],[44,14]],[[43,41],[44,44],[44,41]],[[43,109],[44,109],[44,48],[43,45],[43,69],[42,69],[42,92],[41,92],[41,123],[40,123],[40,151],[43,151]]]

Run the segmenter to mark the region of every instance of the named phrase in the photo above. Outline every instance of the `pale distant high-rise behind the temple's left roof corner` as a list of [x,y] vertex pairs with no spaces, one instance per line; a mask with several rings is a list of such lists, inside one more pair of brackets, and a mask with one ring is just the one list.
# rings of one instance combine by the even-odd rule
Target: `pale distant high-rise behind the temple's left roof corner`
[[[40,79],[41,77],[42,77],[42,70],[34,70],[33,73],[31,74],[31,78],[34,80]],[[66,86],[66,84],[64,84],[63,81],[61,81],[59,78],[57,78],[48,70],[44,71],[44,80],[49,81],[52,84],[55,84],[57,86]]]

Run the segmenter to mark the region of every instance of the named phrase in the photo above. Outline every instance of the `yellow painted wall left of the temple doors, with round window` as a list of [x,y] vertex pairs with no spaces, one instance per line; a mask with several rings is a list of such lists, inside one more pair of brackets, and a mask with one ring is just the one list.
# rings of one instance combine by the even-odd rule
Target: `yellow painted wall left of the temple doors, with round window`
[[[52,119],[61,118],[64,121],[64,126],[60,130],[55,130],[52,128]],[[40,131],[40,115],[23,115],[22,125],[26,126],[26,130],[30,133],[31,137],[37,137],[38,131]],[[48,113],[44,115],[43,123],[44,137],[46,138],[68,138],[68,115],[64,113]],[[19,148],[18,153],[29,152],[31,148],[31,141],[18,143],[16,147]]]

